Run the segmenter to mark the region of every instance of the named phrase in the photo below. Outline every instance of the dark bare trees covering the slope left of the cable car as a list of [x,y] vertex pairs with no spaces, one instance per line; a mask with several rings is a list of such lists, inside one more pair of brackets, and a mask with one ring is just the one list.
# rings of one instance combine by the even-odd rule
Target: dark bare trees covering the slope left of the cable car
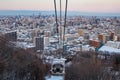
[[1,80],[44,80],[48,70],[40,58],[0,37]]

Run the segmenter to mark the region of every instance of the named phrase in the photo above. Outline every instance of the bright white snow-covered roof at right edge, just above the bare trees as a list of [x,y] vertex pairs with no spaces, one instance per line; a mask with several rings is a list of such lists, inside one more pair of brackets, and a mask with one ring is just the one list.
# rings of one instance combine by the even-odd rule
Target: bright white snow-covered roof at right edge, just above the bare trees
[[102,46],[99,51],[107,51],[109,53],[119,53],[120,54],[120,49],[109,47],[109,46]]

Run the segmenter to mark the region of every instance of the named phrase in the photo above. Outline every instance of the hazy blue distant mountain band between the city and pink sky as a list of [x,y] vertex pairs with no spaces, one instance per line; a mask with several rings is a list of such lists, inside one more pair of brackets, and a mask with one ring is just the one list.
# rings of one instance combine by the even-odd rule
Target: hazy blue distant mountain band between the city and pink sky
[[[31,16],[31,15],[54,15],[54,11],[33,11],[33,10],[0,10],[0,16]],[[59,12],[58,12],[59,15]],[[64,12],[62,12],[64,15]],[[68,16],[119,16],[120,13],[93,13],[93,12],[77,12],[68,11]]]

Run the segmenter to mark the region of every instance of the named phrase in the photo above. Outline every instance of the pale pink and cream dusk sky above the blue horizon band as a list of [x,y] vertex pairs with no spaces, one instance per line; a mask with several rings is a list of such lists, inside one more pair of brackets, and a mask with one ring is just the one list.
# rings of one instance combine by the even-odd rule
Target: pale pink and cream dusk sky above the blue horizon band
[[[56,1],[59,3],[59,0]],[[54,10],[53,2],[54,0],[0,0],[0,10]],[[62,8],[64,5],[65,0],[62,0]],[[68,10],[120,13],[120,0],[68,0]]]

